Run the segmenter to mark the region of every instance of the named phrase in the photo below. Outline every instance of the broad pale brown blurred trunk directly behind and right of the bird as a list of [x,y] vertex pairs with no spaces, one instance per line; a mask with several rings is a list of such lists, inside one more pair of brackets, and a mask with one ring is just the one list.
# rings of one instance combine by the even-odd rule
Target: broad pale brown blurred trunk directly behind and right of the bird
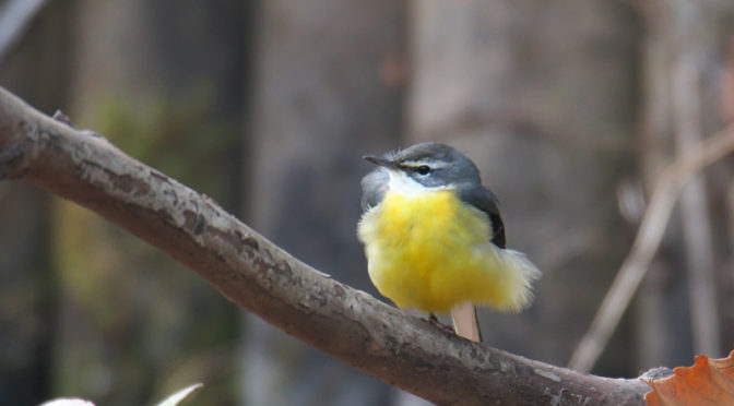
[[[564,365],[629,247],[616,199],[636,123],[639,21],[623,2],[429,0],[413,7],[413,141],[448,142],[499,196],[508,246],[544,272],[484,339]],[[564,21],[559,29],[558,21]],[[626,346],[606,375],[630,375]]]

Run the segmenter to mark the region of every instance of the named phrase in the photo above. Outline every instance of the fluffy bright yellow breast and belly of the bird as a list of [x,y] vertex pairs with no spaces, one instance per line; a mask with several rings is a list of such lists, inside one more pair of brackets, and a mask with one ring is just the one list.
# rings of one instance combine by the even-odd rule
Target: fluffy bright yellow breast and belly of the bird
[[372,283],[401,308],[522,307],[529,280],[489,242],[490,227],[485,213],[450,190],[388,191],[364,214],[358,236]]

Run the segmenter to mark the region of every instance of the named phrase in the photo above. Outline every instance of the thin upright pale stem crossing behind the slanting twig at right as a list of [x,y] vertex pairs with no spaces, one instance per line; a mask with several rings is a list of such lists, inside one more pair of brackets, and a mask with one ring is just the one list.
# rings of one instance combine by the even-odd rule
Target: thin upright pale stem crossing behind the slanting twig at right
[[[673,106],[677,120],[676,143],[680,158],[685,158],[690,148],[702,138],[699,70],[694,63],[690,58],[679,58],[673,74]],[[714,356],[720,348],[719,312],[708,206],[706,179],[696,175],[683,189],[680,196],[680,218],[688,271],[688,302],[694,351]]]

